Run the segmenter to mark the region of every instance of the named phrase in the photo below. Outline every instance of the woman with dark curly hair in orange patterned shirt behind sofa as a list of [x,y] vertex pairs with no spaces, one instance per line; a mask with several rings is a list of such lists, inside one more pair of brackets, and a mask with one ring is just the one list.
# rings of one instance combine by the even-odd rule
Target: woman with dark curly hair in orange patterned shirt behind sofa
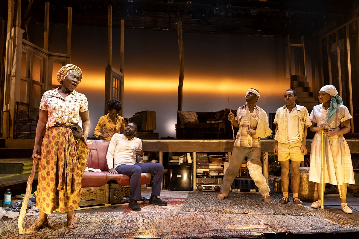
[[102,137],[102,140],[111,140],[113,134],[123,134],[125,130],[125,120],[118,115],[122,109],[121,101],[112,99],[107,101],[106,106],[108,114],[101,116],[98,120],[94,134],[97,138]]

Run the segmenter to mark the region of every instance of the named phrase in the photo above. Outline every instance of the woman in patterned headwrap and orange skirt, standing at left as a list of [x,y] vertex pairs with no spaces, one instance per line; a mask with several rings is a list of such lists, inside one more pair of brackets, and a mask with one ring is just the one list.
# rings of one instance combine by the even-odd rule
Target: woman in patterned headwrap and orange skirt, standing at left
[[[26,230],[27,234],[48,226],[47,214],[53,211],[67,212],[68,228],[78,226],[74,210],[80,202],[81,176],[87,165],[89,145],[86,139],[90,128],[87,99],[75,91],[81,79],[80,68],[67,64],[57,73],[61,87],[46,91],[42,96],[32,154],[32,158],[36,157],[35,154],[41,157],[36,197],[40,216]],[[70,128],[79,123],[80,117],[82,136],[81,133],[73,134]]]

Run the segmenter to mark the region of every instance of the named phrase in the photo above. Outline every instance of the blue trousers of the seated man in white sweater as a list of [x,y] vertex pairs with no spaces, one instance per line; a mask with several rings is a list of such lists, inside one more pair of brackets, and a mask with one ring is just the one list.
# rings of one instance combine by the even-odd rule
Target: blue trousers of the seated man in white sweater
[[130,177],[130,191],[131,199],[140,200],[140,179],[141,173],[151,173],[153,175],[153,196],[161,195],[161,182],[163,177],[163,165],[160,163],[135,163],[135,164],[120,164],[115,170],[118,173],[127,175]]

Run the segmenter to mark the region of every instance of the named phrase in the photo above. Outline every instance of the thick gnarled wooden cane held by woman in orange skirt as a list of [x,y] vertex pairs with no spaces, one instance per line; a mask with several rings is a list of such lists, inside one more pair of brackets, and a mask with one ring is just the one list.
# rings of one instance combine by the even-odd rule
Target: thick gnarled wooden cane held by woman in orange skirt
[[19,219],[18,219],[18,228],[19,228],[20,235],[24,234],[26,231],[24,228],[24,217],[25,217],[25,213],[26,213],[26,209],[27,209],[27,203],[29,201],[31,191],[32,191],[32,181],[34,180],[34,177],[35,177],[36,164],[40,158],[41,157],[38,154],[34,155],[31,173],[30,173],[30,176],[26,183],[26,193],[25,193],[25,197],[23,199],[22,205],[21,205],[21,210],[20,210]]

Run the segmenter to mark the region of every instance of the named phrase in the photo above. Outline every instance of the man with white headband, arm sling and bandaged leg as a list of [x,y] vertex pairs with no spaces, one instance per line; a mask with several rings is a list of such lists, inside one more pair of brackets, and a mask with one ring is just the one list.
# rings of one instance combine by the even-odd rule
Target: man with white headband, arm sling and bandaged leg
[[271,202],[270,189],[262,175],[261,142],[259,138],[271,135],[272,130],[268,126],[267,113],[256,105],[259,98],[260,94],[256,89],[248,89],[246,104],[237,109],[237,117],[234,118],[232,112],[228,115],[228,120],[233,122],[233,126],[239,127],[239,130],[229,166],[224,173],[222,188],[217,197],[220,200],[227,197],[229,188],[236,178],[244,158],[247,157],[247,167],[251,178],[262,194],[264,202]]

